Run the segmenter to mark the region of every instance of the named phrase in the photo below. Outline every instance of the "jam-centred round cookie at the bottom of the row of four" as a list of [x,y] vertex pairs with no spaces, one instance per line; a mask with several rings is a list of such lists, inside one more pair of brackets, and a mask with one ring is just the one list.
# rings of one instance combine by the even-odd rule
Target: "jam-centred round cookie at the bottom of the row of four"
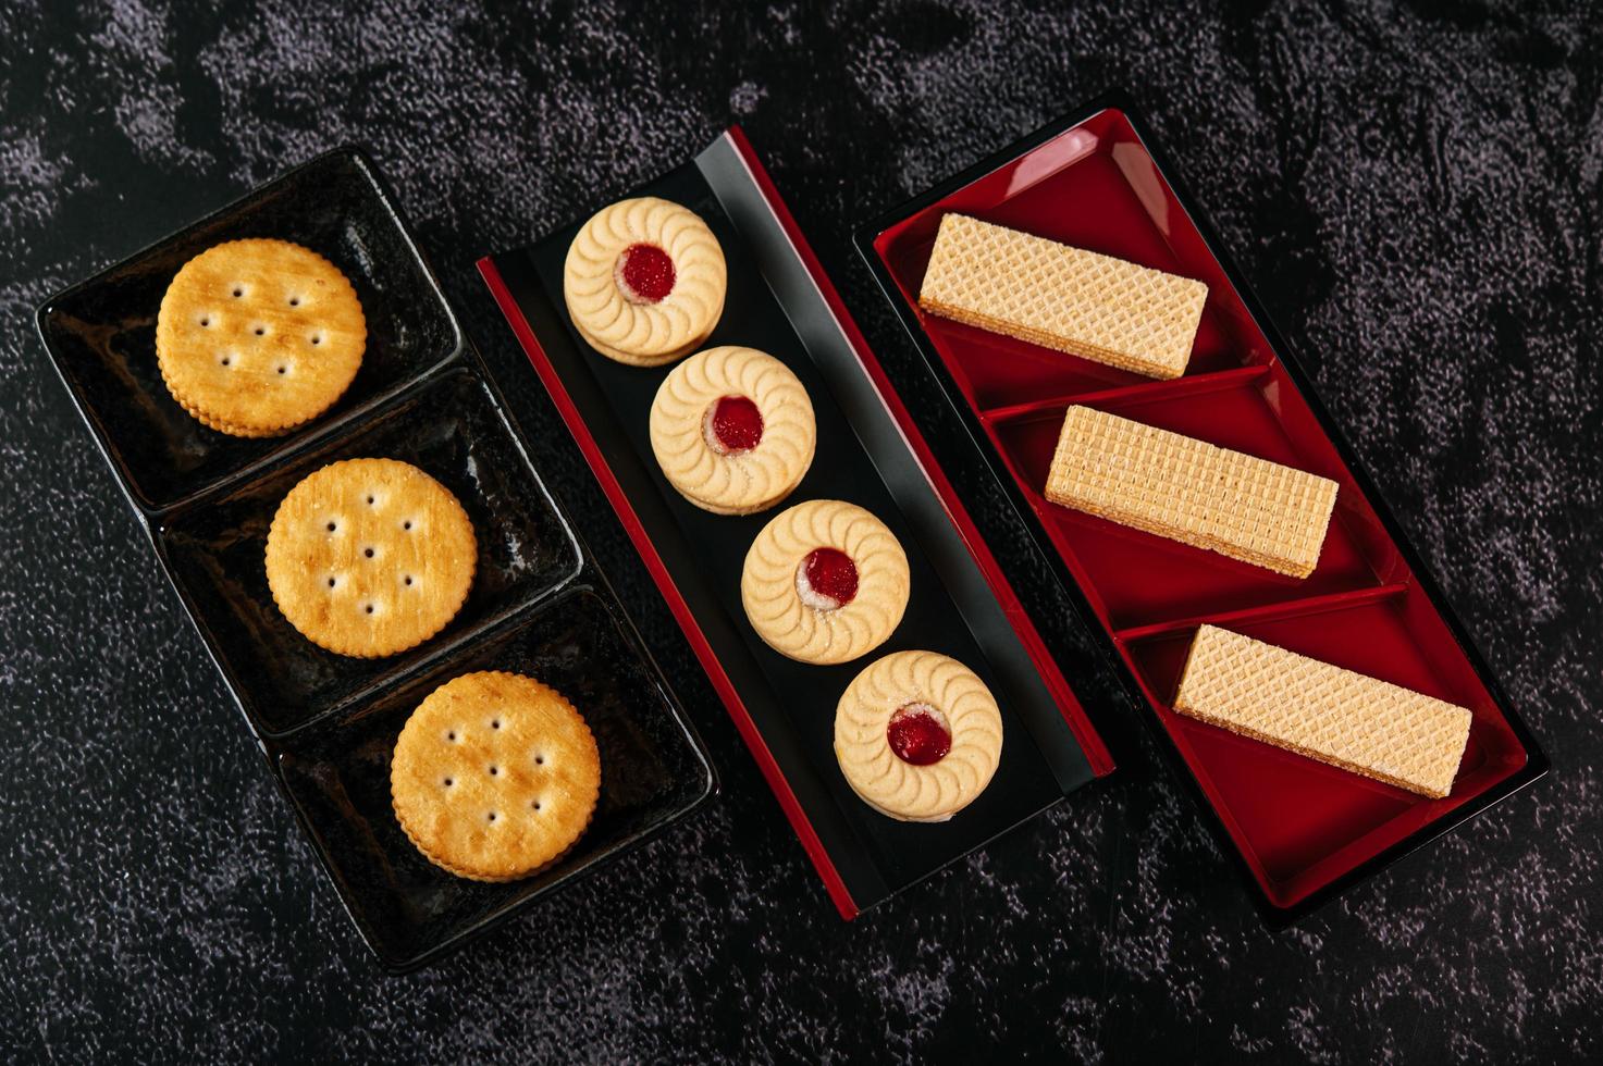
[[869,664],[835,709],[835,758],[880,814],[944,822],[975,802],[1002,758],[1002,713],[957,659],[898,651]]

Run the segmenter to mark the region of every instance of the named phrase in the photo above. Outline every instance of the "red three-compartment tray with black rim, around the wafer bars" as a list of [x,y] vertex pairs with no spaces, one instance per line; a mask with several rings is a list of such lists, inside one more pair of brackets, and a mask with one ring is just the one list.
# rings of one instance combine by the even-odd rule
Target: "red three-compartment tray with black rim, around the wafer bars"
[[[1153,382],[925,314],[917,293],[946,212],[1207,282],[1186,375]],[[1098,99],[1024,138],[866,224],[856,244],[1271,920],[1306,912],[1547,771],[1127,101]],[[1318,569],[1282,577],[1050,503],[1042,491],[1071,404],[1335,479]],[[1169,701],[1201,622],[1468,707],[1452,793],[1422,798],[1177,715]]]

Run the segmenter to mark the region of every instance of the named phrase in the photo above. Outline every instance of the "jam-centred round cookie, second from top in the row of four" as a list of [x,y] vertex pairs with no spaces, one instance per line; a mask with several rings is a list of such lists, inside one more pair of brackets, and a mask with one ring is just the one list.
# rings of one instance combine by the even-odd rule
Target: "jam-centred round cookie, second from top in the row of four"
[[790,495],[818,431],[790,367],[755,348],[709,348],[673,367],[651,402],[651,450],[686,500],[715,515]]

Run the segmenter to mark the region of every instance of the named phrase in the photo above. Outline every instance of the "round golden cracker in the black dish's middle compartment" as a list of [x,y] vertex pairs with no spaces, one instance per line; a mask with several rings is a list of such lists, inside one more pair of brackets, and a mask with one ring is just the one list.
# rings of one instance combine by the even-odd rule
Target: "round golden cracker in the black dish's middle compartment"
[[478,543],[462,503],[394,458],[303,478],[268,531],[268,587],[301,635],[341,656],[393,656],[462,609]]

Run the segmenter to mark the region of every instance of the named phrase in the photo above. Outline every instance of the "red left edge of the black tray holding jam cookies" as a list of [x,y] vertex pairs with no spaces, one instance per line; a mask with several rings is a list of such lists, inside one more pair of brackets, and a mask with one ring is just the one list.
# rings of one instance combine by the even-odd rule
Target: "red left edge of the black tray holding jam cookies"
[[641,563],[646,564],[652,580],[657,583],[657,590],[668,604],[668,611],[673,612],[675,620],[684,632],[684,638],[691,643],[691,649],[696,652],[702,668],[707,672],[707,680],[712,681],[713,689],[718,692],[725,709],[729,712],[729,718],[734,720],[734,726],[741,733],[741,739],[745,741],[745,747],[750,749],[758,769],[761,769],[763,777],[768,779],[768,787],[773,789],[774,798],[779,800],[779,806],[784,810],[785,818],[790,819],[790,827],[795,830],[797,838],[802,840],[803,850],[806,850],[808,858],[813,861],[813,869],[816,869],[818,875],[824,880],[824,888],[829,890],[830,901],[835,904],[840,917],[850,922],[858,917],[858,904],[851,899],[851,893],[846,891],[846,883],[842,880],[835,864],[830,862],[829,853],[824,850],[824,843],[818,838],[818,832],[814,832],[806,813],[802,810],[795,793],[790,790],[790,784],[785,781],[784,773],[781,773],[779,763],[774,761],[773,753],[763,742],[763,736],[757,729],[757,723],[752,721],[750,712],[747,712],[745,704],[741,702],[741,694],[734,689],[734,684],[729,681],[729,675],[723,672],[723,665],[718,662],[718,656],[713,652],[712,644],[707,643],[707,636],[696,624],[696,616],[691,614],[689,604],[684,603],[684,596],[680,595],[678,587],[673,583],[668,567],[664,566],[662,556],[657,555],[656,545],[651,543],[646,527],[641,526],[640,518],[635,515],[635,508],[630,505],[628,495],[612,474],[612,468],[608,465],[600,446],[596,446],[595,438],[590,434],[590,428],[579,414],[579,407],[574,406],[567,390],[563,388],[561,377],[547,359],[545,349],[534,337],[534,330],[529,327],[529,321],[518,308],[518,301],[513,300],[511,293],[507,290],[507,284],[502,281],[500,271],[495,269],[495,263],[491,256],[484,256],[478,261],[478,268],[479,276],[484,277],[484,284],[489,285],[491,293],[495,297],[497,306],[500,306],[502,314],[507,316],[508,325],[511,325],[513,333],[518,337],[518,343],[523,345],[524,353],[529,356],[529,362],[534,365],[535,374],[539,374],[540,382],[545,383],[545,391],[550,393],[551,401],[556,404],[556,410],[563,415],[563,422],[567,425],[567,431],[572,434],[574,442],[579,444],[579,450],[583,452],[585,462],[590,463],[590,470],[600,483],[601,491],[606,494],[608,502],[612,505],[619,521],[624,524],[624,532],[627,532],[628,539],[635,543],[635,550],[640,553]]

